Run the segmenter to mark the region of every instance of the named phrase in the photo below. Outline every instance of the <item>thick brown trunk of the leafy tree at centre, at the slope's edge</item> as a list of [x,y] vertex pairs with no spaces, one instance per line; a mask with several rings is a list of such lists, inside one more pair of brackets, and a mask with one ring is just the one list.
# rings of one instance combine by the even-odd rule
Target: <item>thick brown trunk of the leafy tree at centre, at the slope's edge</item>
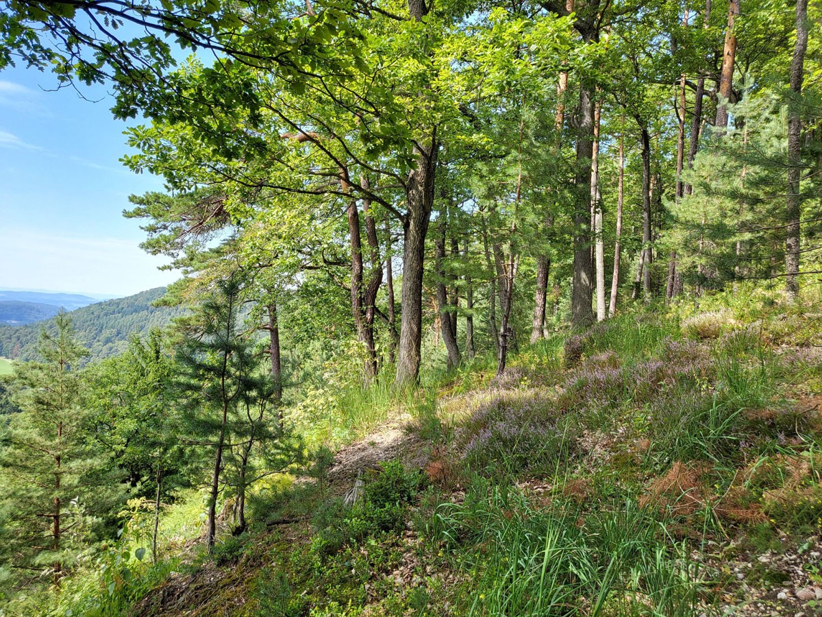
[[[422,0],[410,0],[409,6]],[[424,4],[424,3],[423,3]],[[412,13],[413,14],[413,13]],[[415,147],[417,162],[409,174],[405,197],[408,214],[403,221],[403,285],[400,302],[399,360],[396,387],[416,383],[423,342],[423,265],[425,236],[434,202],[434,174],[439,144],[432,129],[426,146]]]

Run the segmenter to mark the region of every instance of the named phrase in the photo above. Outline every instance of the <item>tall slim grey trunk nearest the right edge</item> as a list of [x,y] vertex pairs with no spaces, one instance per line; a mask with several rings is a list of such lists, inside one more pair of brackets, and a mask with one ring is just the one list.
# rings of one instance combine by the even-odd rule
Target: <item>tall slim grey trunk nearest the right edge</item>
[[801,220],[801,94],[805,53],[808,48],[808,0],[797,0],[797,44],[791,62],[791,100],[787,119],[787,237],[785,239],[785,290],[799,298],[799,250]]

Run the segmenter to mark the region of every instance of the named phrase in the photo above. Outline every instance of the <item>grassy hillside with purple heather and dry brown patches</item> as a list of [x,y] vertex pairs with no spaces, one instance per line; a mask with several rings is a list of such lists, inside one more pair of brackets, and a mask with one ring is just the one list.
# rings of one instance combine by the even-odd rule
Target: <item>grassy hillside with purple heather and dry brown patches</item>
[[405,401],[416,468],[367,472],[349,509],[318,462],[162,595],[136,601],[169,566],[132,583],[129,614],[813,610],[820,325],[754,305],[626,315],[428,384]]

